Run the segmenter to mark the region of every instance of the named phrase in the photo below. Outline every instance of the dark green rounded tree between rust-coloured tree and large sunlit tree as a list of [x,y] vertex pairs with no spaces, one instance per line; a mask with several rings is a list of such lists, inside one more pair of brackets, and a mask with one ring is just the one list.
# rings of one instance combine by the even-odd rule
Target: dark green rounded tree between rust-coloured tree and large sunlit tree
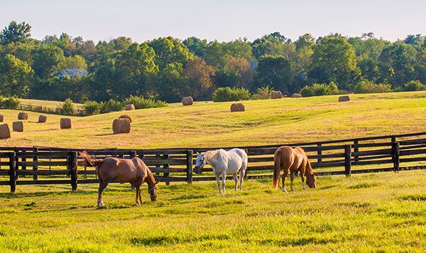
[[269,85],[274,90],[284,93],[293,92],[291,86],[293,71],[287,59],[280,55],[263,55],[259,58],[255,70],[255,85],[262,87]]

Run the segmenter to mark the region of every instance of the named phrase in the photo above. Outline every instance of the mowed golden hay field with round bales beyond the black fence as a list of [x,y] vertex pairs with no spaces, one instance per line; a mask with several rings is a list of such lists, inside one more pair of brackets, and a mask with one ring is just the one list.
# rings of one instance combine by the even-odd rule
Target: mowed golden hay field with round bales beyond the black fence
[[[426,92],[283,98],[243,102],[246,112],[230,112],[232,102],[195,102],[183,107],[126,111],[133,118],[130,134],[113,134],[112,122],[124,112],[71,117],[72,129],[60,130],[63,116],[30,118],[23,133],[12,133],[1,146],[60,146],[129,149],[213,147],[326,141],[425,131]],[[18,111],[0,110],[5,121]]]

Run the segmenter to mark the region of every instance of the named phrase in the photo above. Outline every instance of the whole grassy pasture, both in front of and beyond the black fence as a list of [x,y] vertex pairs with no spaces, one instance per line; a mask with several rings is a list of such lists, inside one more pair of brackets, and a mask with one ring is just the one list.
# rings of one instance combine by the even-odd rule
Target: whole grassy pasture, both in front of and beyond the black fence
[[[124,112],[71,117],[48,114],[45,124],[28,112],[25,131],[0,146],[149,149],[250,146],[403,134],[426,129],[426,92],[273,99],[243,102],[246,112],[229,112],[231,102],[195,102],[189,107],[131,112],[130,134],[112,134]],[[36,101],[35,101],[36,102]],[[18,111],[0,110],[5,122]],[[315,171],[315,168],[314,168]],[[288,182],[289,183],[289,182]],[[97,184],[0,186],[0,251],[152,252],[408,251],[426,248],[426,171],[320,176],[317,188],[272,190],[271,178],[251,179],[242,192],[227,181],[159,185],[151,203],[134,204],[129,184],[104,191],[97,210]],[[288,185],[289,188],[289,185]]]

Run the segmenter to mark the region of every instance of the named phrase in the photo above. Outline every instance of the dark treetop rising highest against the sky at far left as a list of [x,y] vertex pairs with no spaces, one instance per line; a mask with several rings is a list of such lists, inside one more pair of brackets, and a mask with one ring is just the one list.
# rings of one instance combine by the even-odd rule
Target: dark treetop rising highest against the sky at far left
[[1,44],[7,45],[9,43],[26,42],[31,37],[31,26],[28,23],[16,23],[11,21],[9,26],[6,26],[0,32]]

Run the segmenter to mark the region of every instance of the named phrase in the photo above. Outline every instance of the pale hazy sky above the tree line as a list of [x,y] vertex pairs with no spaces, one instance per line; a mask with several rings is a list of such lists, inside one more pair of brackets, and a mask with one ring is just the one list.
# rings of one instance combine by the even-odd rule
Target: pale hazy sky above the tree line
[[118,36],[147,41],[160,36],[231,41],[279,31],[293,41],[304,33],[389,41],[426,35],[426,0],[0,0],[0,28],[12,20],[33,27],[32,37],[82,36],[95,43]]

